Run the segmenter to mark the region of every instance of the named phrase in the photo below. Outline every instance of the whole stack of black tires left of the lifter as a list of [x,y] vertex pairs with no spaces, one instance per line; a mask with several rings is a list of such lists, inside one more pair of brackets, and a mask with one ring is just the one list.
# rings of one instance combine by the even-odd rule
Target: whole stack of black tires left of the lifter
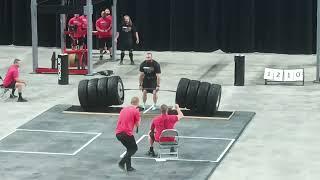
[[119,76],[81,80],[78,98],[84,110],[94,110],[111,105],[122,105],[124,87]]

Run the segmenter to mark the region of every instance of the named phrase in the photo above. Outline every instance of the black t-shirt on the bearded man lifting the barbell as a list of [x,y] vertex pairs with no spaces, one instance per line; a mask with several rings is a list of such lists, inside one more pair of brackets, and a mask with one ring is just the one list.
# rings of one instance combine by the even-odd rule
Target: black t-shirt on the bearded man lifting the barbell
[[155,60],[150,62],[145,60],[140,64],[140,72],[144,73],[145,79],[156,79],[156,74],[161,73],[160,64]]

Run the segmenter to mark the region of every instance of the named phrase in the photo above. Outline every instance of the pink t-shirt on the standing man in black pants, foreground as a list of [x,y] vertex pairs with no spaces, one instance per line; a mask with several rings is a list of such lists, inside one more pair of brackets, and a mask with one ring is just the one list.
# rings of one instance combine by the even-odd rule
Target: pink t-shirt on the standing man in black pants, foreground
[[128,106],[120,111],[116,134],[125,132],[128,136],[133,135],[134,125],[140,121],[140,112],[134,106]]

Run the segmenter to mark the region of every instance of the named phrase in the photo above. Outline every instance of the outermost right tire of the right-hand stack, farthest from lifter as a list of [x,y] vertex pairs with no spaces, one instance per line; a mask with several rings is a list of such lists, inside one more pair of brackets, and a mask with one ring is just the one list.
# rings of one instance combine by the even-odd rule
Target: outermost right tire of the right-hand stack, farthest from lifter
[[208,91],[206,114],[209,116],[214,115],[219,108],[221,100],[221,85],[211,84]]

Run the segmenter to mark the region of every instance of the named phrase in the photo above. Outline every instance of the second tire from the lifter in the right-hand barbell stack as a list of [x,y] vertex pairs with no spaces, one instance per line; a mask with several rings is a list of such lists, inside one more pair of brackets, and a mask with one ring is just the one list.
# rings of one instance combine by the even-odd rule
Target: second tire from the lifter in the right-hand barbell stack
[[200,85],[200,81],[197,80],[191,80],[187,89],[187,95],[186,95],[186,108],[195,110],[196,107],[196,99],[197,99],[197,93],[198,88]]

